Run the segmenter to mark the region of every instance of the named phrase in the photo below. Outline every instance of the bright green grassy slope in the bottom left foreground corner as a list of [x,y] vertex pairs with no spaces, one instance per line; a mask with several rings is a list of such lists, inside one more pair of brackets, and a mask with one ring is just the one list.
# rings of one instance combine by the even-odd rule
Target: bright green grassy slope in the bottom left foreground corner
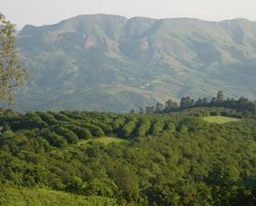
[[84,197],[63,191],[44,189],[8,188],[0,189],[0,205],[4,206],[111,206],[115,200],[97,196]]

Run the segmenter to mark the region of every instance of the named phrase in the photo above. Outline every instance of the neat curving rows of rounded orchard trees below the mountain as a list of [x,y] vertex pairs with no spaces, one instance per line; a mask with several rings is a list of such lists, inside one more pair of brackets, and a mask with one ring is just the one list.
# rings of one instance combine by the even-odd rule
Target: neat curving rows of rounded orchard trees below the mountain
[[[47,139],[49,145],[62,148],[79,139],[118,136],[133,139],[155,135],[164,130],[176,130],[169,117],[144,117],[93,112],[28,112],[5,110],[0,117],[2,132],[29,130],[31,137]],[[171,126],[173,125],[173,126]]]

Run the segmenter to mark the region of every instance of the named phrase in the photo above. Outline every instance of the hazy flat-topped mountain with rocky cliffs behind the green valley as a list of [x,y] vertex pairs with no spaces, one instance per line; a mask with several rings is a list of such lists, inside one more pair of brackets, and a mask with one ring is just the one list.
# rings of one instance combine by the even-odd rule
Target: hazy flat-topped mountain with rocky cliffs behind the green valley
[[223,90],[256,98],[256,22],[78,15],[25,26],[16,46],[30,70],[19,110],[129,111]]

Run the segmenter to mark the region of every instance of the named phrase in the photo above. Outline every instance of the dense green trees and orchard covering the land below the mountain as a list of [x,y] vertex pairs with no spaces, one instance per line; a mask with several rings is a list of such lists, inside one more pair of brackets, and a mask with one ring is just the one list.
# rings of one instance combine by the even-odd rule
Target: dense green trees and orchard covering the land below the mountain
[[[218,107],[123,115],[7,109],[0,117],[0,203],[10,187],[22,187],[99,205],[255,205],[256,118],[243,114]],[[212,115],[237,118],[204,120]]]

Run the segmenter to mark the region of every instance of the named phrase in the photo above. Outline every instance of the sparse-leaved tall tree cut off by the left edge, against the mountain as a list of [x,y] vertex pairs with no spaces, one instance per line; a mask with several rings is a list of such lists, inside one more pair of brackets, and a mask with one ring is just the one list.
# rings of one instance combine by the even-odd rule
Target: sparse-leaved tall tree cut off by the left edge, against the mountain
[[27,70],[16,55],[15,32],[15,26],[0,13],[0,98],[9,104],[14,101],[14,90],[27,77]]

